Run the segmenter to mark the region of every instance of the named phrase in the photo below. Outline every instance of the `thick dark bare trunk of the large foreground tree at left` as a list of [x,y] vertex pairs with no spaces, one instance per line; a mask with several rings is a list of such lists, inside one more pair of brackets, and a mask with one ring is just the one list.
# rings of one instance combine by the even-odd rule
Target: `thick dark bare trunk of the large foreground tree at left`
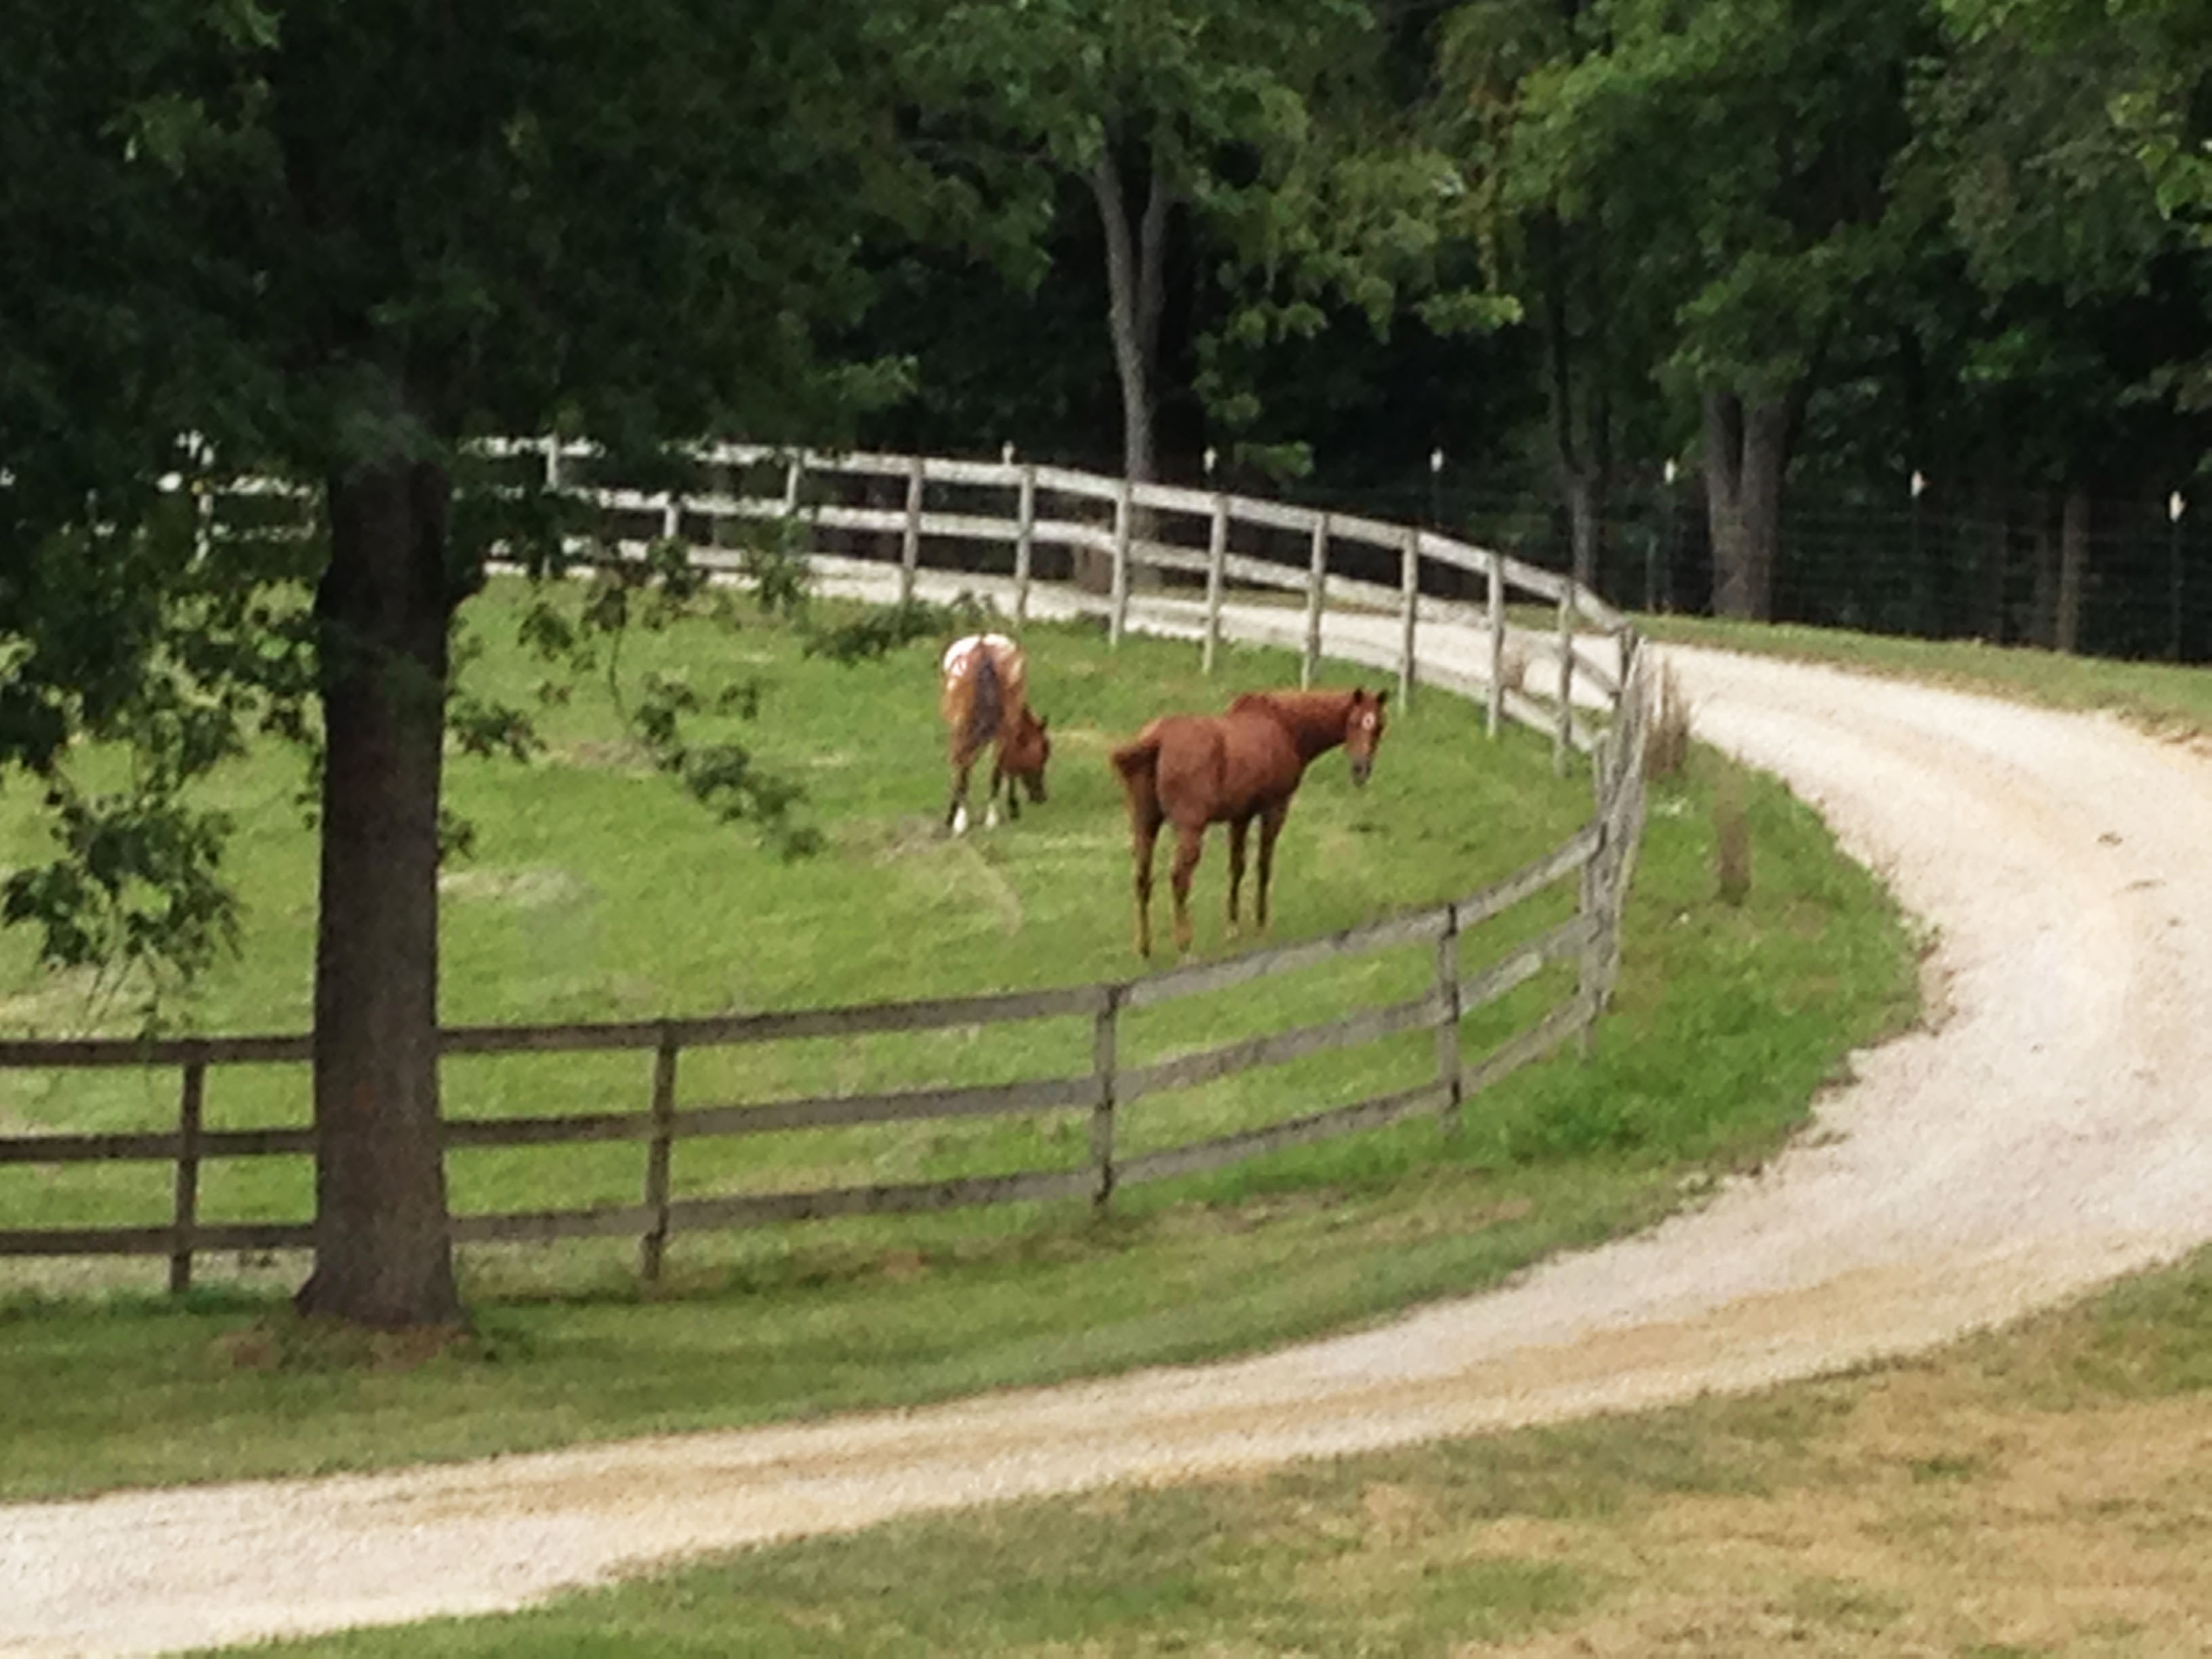
[[438,790],[451,480],[378,460],[330,480],[316,591],[323,891],[314,947],[314,1272],[305,1314],[460,1318],[438,1130]]

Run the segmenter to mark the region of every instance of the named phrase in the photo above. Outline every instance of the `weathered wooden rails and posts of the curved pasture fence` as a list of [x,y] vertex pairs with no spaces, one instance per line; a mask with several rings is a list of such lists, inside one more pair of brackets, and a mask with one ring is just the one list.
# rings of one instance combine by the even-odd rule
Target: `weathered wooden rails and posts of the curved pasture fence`
[[[546,478],[562,484],[562,465],[595,456],[588,447],[493,445],[493,453],[538,453]],[[1250,951],[1221,962],[1197,962],[1135,980],[1064,987],[1048,991],[1013,991],[991,995],[929,998],[878,1002],[843,1009],[799,1009],[785,1013],[717,1015],[697,1020],[646,1020],[606,1024],[540,1024],[540,1026],[453,1026],[440,1033],[440,1055],[515,1055],[515,1053],[619,1053],[650,1051],[655,1055],[650,1095],[639,1110],[599,1110],[555,1117],[449,1119],[445,1146],[460,1148],[540,1148],[628,1141],[644,1146],[639,1203],[591,1206],[573,1210],[465,1214],[453,1219],[458,1243],[487,1241],[553,1241],[628,1237],[639,1245],[639,1272],[653,1279],[661,1272],[666,1245],[681,1232],[750,1228],[783,1221],[916,1214],[975,1203],[1073,1201],[1108,1206],[1121,1186],[1161,1181],[1179,1175],[1225,1168],[1267,1152],[1305,1146],[1338,1135],[1363,1133],[1409,1117],[1433,1117],[1447,1130],[1458,1128],[1464,1104],[1482,1088],[1500,1082],[1571,1037],[1588,1040],[1590,1024],[1604,1009],[1619,967],[1619,918],[1626,883],[1641,834],[1641,754],[1648,712],[1648,675],[1637,635],[1619,613],[1573,588],[1564,577],[1517,566],[1498,553],[1469,549],[1431,531],[1383,524],[1316,509],[1252,502],[1245,498],[1126,484],[1053,467],[989,465],[907,456],[790,456],[750,447],[701,451],[708,465],[737,469],[776,465],[781,493],[745,498],[714,493],[706,498],[648,495],[639,491],[584,491],[611,513],[650,511],[668,535],[681,533],[688,518],[759,518],[776,511],[799,515],[816,529],[863,529],[896,533],[900,542],[900,593],[916,591],[922,538],[995,540],[1015,546],[1015,615],[1026,617],[1029,591],[1042,577],[1033,568],[1033,551],[1048,535],[1068,531],[1064,546],[1104,553],[1113,560],[1108,593],[1102,604],[1110,633],[1130,624],[1133,568],[1181,571],[1206,575],[1203,644],[1212,666],[1214,644],[1225,633],[1245,633],[1248,624],[1225,608],[1228,580],[1298,588],[1307,613],[1296,628],[1305,646],[1305,668],[1312,677],[1321,657],[1325,630],[1321,617],[1332,599],[1369,611],[1387,611],[1398,626],[1389,655],[1400,679],[1411,688],[1416,675],[1447,688],[1480,688],[1489,699],[1489,726],[1515,719],[1553,737],[1555,757],[1588,750],[1593,757],[1593,816],[1559,847],[1524,869],[1467,894],[1460,900],[1387,916],[1360,927],[1314,940],[1298,940]],[[898,480],[905,504],[898,511],[832,509],[803,502],[805,478]],[[929,513],[927,487],[1011,489],[1011,518],[987,513]],[[257,484],[257,493],[272,493]],[[1037,493],[1053,491],[1075,500],[1104,502],[1113,509],[1113,526],[1097,529],[1073,520],[1037,515]],[[1203,518],[1203,549],[1192,553],[1172,542],[1133,533],[1137,509]],[[867,513],[863,518],[860,513]],[[1298,564],[1261,557],[1232,557],[1232,526],[1259,526],[1307,538],[1307,555]],[[710,542],[719,533],[710,531]],[[1387,588],[1327,568],[1336,540],[1363,542],[1400,560],[1400,584]],[[619,542],[619,538],[617,538]],[[712,564],[717,551],[701,546],[697,557]],[[1486,604],[1480,608],[1422,593],[1422,560],[1471,571],[1484,577]],[[1555,697],[1546,703],[1502,686],[1506,650],[1506,591],[1531,593],[1555,608]],[[1097,595],[1079,599],[1099,604]],[[1422,619],[1480,619],[1486,639],[1486,672],[1467,675],[1442,661],[1422,661]],[[1139,617],[1141,619],[1141,617]],[[1586,655],[1586,633],[1597,630],[1610,646],[1613,664]],[[1336,641],[1332,648],[1343,648]],[[1593,703],[1579,710],[1579,692]],[[1577,883],[1575,914],[1537,936],[1506,949],[1495,960],[1462,964],[1462,947],[1475,929],[1493,922],[1571,876]],[[1296,973],[1334,960],[1356,960],[1378,951],[1427,945],[1433,956],[1429,989],[1387,1006],[1360,1009],[1336,1020],[1290,1031],[1219,1042],[1148,1064],[1126,1064],[1124,1022],[1144,1009],[1181,998],[1234,991],[1261,980]],[[1462,1022],[1467,1015],[1511,995],[1546,969],[1575,962],[1575,987],[1482,1055],[1462,1057]],[[1091,1068],[1060,1077],[1029,1077],[1011,1084],[964,1084],[900,1088],[887,1093],[810,1095],[759,1104],[677,1106],[677,1073],[686,1053],[799,1037],[858,1037],[880,1033],[927,1033],[969,1026],[1000,1026],[1029,1020],[1088,1020]],[[1307,1113],[1287,1121],[1243,1128],[1230,1135],[1152,1148],[1130,1157],[1117,1150],[1121,1110],[1139,1099],[1197,1088],[1256,1066],[1290,1064],[1301,1057],[1360,1048],[1387,1037],[1429,1031],[1436,1037],[1433,1077],[1409,1088],[1371,1095],[1347,1106]],[[296,1128],[206,1128],[208,1071],[223,1066],[307,1064],[307,1035],[241,1035],[241,1037],[159,1037],[159,1040],[0,1040],[0,1071],[24,1068],[177,1068],[177,1128],[155,1133],[106,1135],[13,1135],[0,1137],[0,1166],[82,1166],[150,1161],[175,1168],[170,1217],[157,1225],[119,1228],[13,1228],[0,1230],[0,1256],[168,1256],[173,1290],[186,1290],[195,1254],[217,1250],[283,1250],[312,1243],[314,1228],[305,1221],[208,1221],[199,1214],[199,1177],[210,1159],[307,1157],[314,1152],[314,1130]],[[1075,1168],[1015,1170],[1002,1175],[964,1175],[938,1181],[874,1183],[814,1188],[794,1192],[737,1192],[710,1197],[672,1197],[670,1170],[681,1141],[717,1137],[750,1137],[823,1128],[856,1128],[872,1124],[907,1124],[929,1119],[975,1119],[1002,1115],[1071,1113],[1088,1119],[1086,1159]]]

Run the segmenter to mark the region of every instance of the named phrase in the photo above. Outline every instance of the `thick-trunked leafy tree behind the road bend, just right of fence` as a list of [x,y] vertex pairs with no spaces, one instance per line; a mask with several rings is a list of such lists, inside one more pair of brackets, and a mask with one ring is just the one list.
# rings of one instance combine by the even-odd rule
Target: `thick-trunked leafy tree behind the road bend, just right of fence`
[[1931,18],[1922,0],[1613,0],[1601,24],[1601,51],[1524,82],[1517,164],[1566,223],[1619,215],[1632,285],[1666,296],[1659,367],[1699,409],[1714,611],[1765,617],[1805,400],[1893,259],[1885,177]]

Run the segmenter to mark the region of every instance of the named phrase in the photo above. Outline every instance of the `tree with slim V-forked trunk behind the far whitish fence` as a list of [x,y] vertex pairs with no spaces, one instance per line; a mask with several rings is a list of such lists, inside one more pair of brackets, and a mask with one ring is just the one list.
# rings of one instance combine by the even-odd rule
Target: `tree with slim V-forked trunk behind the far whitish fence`
[[1000,179],[1042,208],[1064,179],[1091,199],[1128,478],[1159,476],[1179,230],[1228,294],[1201,389],[1230,427],[1254,414],[1239,347],[1318,330],[1321,294],[1385,319],[1433,246],[1411,210],[1436,192],[1433,164],[1347,115],[1376,108],[1371,15],[1354,0],[973,0],[936,9],[902,51],[940,133],[1004,146]]

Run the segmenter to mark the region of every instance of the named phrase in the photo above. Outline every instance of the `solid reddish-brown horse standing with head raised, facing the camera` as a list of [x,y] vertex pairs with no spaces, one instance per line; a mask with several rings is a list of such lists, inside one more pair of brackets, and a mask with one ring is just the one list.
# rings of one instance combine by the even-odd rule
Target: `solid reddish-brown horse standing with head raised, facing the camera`
[[1175,825],[1175,949],[1190,951],[1190,874],[1199,867],[1206,825],[1230,827],[1230,931],[1243,885],[1245,830],[1259,818],[1259,891],[1254,920],[1267,927],[1267,876],[1274,838],[1290,799],[1316,754],[1338,743],[1352,757],[1352,781],[1367,783],[1383,741],[1389,692],[1248,692],[1228,714],[1161,714],[1113,752],[1128,796],[1130,852],[1137,860],[1137,953],[1152,953],[1152,845],[1159,825]]

